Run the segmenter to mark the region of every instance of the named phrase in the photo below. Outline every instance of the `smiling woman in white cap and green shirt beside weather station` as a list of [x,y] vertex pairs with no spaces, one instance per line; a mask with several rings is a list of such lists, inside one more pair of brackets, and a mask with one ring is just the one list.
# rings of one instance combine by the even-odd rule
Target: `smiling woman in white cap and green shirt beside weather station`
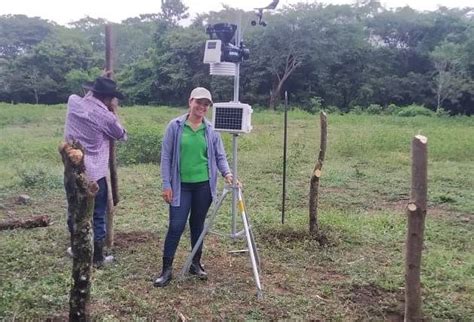
[[[166,128],[161,148],[163,199],[169,207],[169,227],[163,250],[163,268],[154,285],[163,287],[172,278],[173,259],[189,213],[191,246],[204,227],[207,211],[217,195],[217,171],[229,184],[233,177],[220,135],[205,118],[212,105],[211,93],[197,87],[189,96],[189,112],[173,119]],[[202,244],[189,272],[207,279],[201,265]]]

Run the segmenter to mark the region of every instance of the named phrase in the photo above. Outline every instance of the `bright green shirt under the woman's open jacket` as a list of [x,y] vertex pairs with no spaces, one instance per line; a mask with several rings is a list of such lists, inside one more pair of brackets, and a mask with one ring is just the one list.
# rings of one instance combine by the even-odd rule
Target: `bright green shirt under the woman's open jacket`
[[181,136],[180,169],[181,182],[209,180],[207,143],[204,123],[193,130],[186,122]]

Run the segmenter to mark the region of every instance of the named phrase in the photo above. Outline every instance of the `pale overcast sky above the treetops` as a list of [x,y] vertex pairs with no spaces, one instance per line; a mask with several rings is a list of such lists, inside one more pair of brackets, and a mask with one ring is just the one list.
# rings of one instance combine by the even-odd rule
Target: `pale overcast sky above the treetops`
[[[0,15],[25,14],[53,20],[59,24],[67,24],[85,16],[105,18],[108,21],[120,22],[129,17],[143,13],[160,11],[160,0],[2,0]],[[218,11],[222,4],[231,5],[244,10],[266,6],[271,0],[183,0],[189,7],[191,17],[196,13]],[[280,0],[279,7],[309,0]],[[322,3],[343,4],[353,3],[352,0],[324,0]],[[448,8],[474,7],[472,0],[382,0],[387,8],[409,5],[417,10],[436,10],[438,6]]]

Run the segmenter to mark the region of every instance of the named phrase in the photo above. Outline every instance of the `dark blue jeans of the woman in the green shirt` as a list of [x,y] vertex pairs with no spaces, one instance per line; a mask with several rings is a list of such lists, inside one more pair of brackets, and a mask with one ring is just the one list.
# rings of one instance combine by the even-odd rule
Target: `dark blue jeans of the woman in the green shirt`
[[[189,228],[191,230],[191,246],[194,247],[204,228],[204,221],[211,203],[212,195],[209,181],[181,183],[180,206],[170,206],[169,226],[163,257],[174,257],[190,211]],[[202,244],[198,249],[198,253],[201,252]]]

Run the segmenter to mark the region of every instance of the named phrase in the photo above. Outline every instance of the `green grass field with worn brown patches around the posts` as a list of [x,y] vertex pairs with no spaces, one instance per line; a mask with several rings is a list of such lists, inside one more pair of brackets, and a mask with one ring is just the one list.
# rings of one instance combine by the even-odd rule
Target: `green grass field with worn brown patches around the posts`
[[[141,149],[153,156],[159,151],[159,139],[153,138],[183,112],[137,106],[122,108],[120,115],[133,129],[131,134],[150,134],[142,135],[140,142],[145,142]],[[0,319],[68,316],[72,262],[65,254],[69,239],[63,167],[57,153],[64,118],[64,106],[0,104],[0,220],[39,214],[53,219],[47,228],[0,231]],[[429,150],[424,315],[474,320],[474,119],[331,114],[328,122],[319,218],[328,238],[325,246],[307,233],[319,117],[289,113],[284,225],[283,115],[254,113],[254,130],[238,139],[238,176],[263,262],[262,300],[255,296],[248,256],[228,252],[242,249],[243,241],[216,234],[205,242],[203,262],[209,281],[175,280],[167,288],[154,288],[167,229],[159,166],[123,162],[118,170],[121,202],[113,250],[117,261],[93,273],[93,318],[403,318],[410,144],[420,133],[428,137]],[[223,134],[223,138],[230,157],[232,137]],[[133,135],[130,146],[132,140]],[[133,153],[122,149],[129,157]],[[18,204],[20,194],[31,196],[31,203]],[[230,199],[221,208],[215,230],[230,231],[229,209]],[[175,273],[188,253],[188,239],[186,233]]]

